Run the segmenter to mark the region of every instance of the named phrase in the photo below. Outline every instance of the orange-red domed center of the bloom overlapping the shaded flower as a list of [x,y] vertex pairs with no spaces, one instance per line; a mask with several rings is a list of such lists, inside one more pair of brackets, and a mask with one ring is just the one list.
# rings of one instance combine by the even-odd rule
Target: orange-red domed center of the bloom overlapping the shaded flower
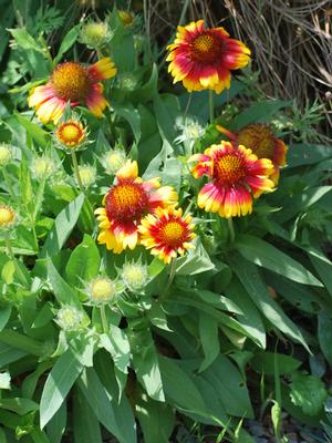
[[247,167],[239,153],[222,154],[214,164],[214,177],[222,185],[235,185],[246,177]]

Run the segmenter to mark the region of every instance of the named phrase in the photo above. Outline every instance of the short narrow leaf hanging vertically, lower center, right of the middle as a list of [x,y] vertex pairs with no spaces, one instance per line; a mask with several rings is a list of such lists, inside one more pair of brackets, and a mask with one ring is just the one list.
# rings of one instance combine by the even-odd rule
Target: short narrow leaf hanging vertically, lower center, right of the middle
[[218,332],[218,321],[205,312],[199,312],[199,337],[205,356],[199,368],[200,372],[206,370],[220,352]]

